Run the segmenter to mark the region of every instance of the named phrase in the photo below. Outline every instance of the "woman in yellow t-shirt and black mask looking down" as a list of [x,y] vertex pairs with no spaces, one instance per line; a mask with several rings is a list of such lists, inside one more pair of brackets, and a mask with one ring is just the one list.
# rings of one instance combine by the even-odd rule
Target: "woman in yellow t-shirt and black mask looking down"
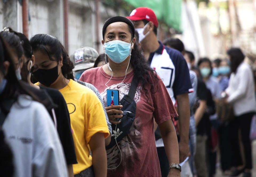
[[30,43],[35,56],[33,78],[39,86],[58,89],[66,100],[78,162],[73,164],[75,177],[106,176],[104,139],[109,130],[101,102],[92,90],[74,81],[74,65],[57,38],[38,34]]

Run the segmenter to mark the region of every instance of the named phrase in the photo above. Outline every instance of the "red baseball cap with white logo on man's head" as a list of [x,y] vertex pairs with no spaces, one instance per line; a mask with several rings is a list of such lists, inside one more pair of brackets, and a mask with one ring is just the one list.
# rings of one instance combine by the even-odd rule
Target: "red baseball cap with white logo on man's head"
[[126,18],[133,21],[148,20],[148,21],[152,21],[156,27],[158,25],[158,21],[157,21],[157,17],[155,16],[155,13],[153,12],[153,10],[147,7],[138,7],[134,9],[131,12],[130,16]]

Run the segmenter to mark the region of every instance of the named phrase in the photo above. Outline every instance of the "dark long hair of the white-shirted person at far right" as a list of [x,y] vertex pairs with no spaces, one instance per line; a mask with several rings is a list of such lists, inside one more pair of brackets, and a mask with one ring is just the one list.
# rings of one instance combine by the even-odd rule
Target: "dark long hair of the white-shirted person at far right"
[[240,50],[240,48],[230,48],[227,51],[227,54],[230,56],[230,69],[231,72],[236,72],[238,66],[243,62],[245,59],[245,56],[243,55],[243,52]]

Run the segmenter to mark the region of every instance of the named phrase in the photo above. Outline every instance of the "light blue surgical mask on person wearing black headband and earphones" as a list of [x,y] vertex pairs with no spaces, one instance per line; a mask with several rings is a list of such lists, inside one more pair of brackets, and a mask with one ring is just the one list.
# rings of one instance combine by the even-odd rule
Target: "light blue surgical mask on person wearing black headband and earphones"
[[131,43],[121,40],[113,40],[104,43],[105,54],[115,63],[122,63],[131,55]]

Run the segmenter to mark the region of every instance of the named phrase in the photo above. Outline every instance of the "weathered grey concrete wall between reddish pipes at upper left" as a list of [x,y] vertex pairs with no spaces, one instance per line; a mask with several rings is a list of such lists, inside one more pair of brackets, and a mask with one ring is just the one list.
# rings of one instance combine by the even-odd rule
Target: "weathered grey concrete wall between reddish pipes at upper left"
[[[96,12],[94,0],[69,0],[69,54],[82,46],[96,48]],[[29,38],[46,33],[57,37],[64,44],[63,0],[29,0]],[[114,10],[100,3],[101,22],[99,24],[100,53],[102,27],[110,17],[126,16],[123,10]],[[0,29],[10,26],[22,32],[22,6],[18,0],[0,1]]]

